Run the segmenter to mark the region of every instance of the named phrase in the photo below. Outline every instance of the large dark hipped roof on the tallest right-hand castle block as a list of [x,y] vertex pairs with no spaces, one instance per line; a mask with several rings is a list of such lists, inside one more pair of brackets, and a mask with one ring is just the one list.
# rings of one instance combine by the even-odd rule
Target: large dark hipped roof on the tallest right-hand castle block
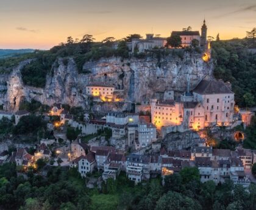
[[221,80],[201,80],[196,88],[194,88],[193,92],[199,94],[233,93],[231,89]]

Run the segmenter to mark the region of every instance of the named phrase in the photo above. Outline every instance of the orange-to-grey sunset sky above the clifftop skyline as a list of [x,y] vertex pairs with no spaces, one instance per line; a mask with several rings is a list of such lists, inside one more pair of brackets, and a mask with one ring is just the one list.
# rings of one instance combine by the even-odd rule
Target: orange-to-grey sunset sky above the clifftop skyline
[[66,37],[96,41],[191,26],[222,40],[256,27],[255,0],[0,0],[0,49],[50,49]]

